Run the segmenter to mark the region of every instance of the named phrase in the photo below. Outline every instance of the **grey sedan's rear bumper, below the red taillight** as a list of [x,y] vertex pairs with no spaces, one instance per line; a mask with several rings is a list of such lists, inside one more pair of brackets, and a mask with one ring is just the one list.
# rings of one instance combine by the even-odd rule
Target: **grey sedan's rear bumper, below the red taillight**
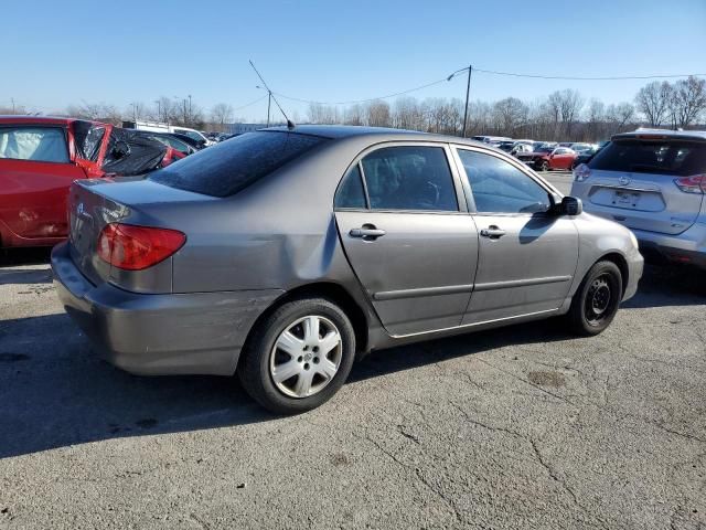
[[247,335],[279,289],[146,295],[93,285],[66,243],[54,247],[58,297],[108,361],[132,373],[235,372]]

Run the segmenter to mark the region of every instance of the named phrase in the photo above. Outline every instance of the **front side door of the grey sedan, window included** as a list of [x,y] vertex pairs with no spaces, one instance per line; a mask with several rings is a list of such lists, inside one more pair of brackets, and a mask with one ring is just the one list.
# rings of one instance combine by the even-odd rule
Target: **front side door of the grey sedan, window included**
[[479,231],[479,263],[463,324],[549,311],[568,295],[578,232],[549,213],[549,191],[490,152],[458,149]]

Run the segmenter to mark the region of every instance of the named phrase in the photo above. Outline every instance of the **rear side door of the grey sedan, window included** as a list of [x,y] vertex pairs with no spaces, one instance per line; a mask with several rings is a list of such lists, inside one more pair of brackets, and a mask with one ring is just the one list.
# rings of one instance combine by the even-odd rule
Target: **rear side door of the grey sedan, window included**
[[478,233],[442,144],[374,148],[339,187],[346,256],[395,336],[456,327],[470,299]]

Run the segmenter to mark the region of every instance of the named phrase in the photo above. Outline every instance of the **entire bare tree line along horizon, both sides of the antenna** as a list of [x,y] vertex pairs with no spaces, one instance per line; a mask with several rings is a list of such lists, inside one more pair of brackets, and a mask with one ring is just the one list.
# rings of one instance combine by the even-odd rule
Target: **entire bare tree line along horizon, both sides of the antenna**
[[[21,106],[17,114],[24,114]],[[395,127],[447,135],[462,134],[463,102],[459,98],[400,97],[392,104],[378,99],[339,107],[311,103],[306,121],[311,124]],[[11,109],[0,107],[0,114]],[[218,103],[210,110],[191,99],[160,97],[152,105],[132,103],[125,109],[114,105],[83,103],[62,113],[119,125],[122,120],[160,121],[196,129],[225,131],[226,124],[240,121],[232,105]],[[292,113],[295,123],[300,123]],[[574,89],[556,91],[534,102],[506,97],[498,102],[469,104],[467,136],[493,135],[543,140],[596,141],[640,125],[689,128],[706,120],[706,80],[688,77],[674,83],[653,82],[638,92],[633,102],[606,105],[586,99]]]

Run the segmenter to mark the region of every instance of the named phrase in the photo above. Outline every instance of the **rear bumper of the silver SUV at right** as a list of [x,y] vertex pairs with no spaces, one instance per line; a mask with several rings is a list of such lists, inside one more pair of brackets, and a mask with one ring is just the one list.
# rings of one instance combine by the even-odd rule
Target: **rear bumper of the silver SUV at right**
[[706,222],[700,220],[678,235],[633,230],[640,252],[648,257],[696,265],[706,269]]

